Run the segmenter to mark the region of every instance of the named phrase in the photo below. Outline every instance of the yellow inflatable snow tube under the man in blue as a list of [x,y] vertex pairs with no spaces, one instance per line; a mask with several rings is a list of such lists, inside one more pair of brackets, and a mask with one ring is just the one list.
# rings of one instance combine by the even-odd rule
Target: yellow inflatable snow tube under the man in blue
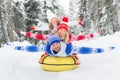
[[52,72],[72,70],[80,64],[77,55],[54,57],[48,56],[47,54],[43,54],[40,57],[39,63],[43,70]]

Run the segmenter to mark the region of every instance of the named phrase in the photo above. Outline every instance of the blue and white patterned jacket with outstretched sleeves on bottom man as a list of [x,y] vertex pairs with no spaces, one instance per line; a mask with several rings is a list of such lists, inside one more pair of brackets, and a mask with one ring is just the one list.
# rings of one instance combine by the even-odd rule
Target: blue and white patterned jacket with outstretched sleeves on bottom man
[[47,52],[51,56],[69,56],[71,54],[96,54],[96,53],[103,53],[105,51],[110,51],[115,49],[114,46],[108,47],[108,48],[91,48],[91,47],[78,47],[73,46],[72,44],[66,44],[63,42],[60,42],[61,49],[57,54],[54,54],[52,52],[50,45],[47,44],[45,46],[35,46],[35,45],[29,45],[29,46],[16,46],[12,43],[6,44],[7,46],[10,46],[14,48],[15,50],[20,51],[27,51],[27,52]]

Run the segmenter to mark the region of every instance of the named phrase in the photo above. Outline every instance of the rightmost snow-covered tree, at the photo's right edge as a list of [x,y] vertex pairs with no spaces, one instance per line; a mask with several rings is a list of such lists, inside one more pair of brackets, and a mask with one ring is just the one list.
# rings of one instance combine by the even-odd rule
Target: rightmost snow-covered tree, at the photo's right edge
[[[115,1],[115,2],[114,2]],[[118,8],[119,2],[118,0],[109,1],[106,0],[105,2],[105,11],[103,9],[103,15],[101,20],[101,30],[102,35],[112,34],[118,30],[120,30],[119,23],[118,23]]]

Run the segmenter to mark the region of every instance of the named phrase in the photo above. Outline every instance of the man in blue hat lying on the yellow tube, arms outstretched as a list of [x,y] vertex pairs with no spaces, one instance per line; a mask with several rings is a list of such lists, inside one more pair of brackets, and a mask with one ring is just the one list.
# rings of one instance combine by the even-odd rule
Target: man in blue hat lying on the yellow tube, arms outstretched
[[[11,46],[12,44],[9,44]],[[13,47],[13,46],[12,46]],[[105,51],[113,50],[115,47],[102,48],[91,48],[91,47],[78,47],[72,44],[66,44],[56,36],[51,35],[48,38],[48,43],[44,46],[14,46],[16,50],[23,50],[28,52],[46,52],[50,56],[70,56],[72,54],[93,54],[103,53]]]

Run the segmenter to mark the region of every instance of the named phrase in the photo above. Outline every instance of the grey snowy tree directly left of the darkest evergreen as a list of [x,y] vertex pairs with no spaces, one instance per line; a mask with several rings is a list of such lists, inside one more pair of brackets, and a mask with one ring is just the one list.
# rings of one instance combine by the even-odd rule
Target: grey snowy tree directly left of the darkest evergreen
[[13,0],[13,22],[15,26],[15,31],[20,29],[25,30],[25,19],[27,18],[24,3],[22,1]]

